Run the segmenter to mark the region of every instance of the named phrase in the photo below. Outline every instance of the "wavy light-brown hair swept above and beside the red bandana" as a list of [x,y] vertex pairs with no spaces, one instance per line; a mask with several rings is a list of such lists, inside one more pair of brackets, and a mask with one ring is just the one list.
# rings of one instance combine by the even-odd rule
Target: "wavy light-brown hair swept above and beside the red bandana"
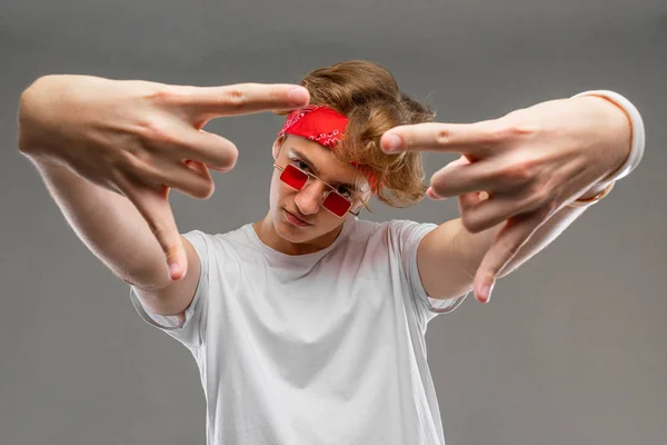
[[300,85],[310,92],[311,105],[348,117],[345,137],[332,154],[341,162],[355,161],[361,171],[371,172],[380,201],[398,208],[424,198],[421,154],[387,155],[380,149],[380,137],[400,125],[432,121],[435,112],[428,106],[401,92],[389,70],[365,60],[316,69]]

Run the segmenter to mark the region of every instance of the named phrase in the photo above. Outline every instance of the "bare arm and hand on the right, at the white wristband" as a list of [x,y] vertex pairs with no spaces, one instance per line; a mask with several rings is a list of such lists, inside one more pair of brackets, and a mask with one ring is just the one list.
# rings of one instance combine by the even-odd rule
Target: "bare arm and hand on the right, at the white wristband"
[[488,301],[498,277],[585,211],[570,202],[595,197],[626,175],[631,141],[643,140],[624,109],[599,97],[547,101],[472,125],[395,130],[404,149],[464,154],[434,175],[428,191],[432,199],[458,196],[461,218],[428,234],[417,259],[430,296],[474,289],[480,301]]

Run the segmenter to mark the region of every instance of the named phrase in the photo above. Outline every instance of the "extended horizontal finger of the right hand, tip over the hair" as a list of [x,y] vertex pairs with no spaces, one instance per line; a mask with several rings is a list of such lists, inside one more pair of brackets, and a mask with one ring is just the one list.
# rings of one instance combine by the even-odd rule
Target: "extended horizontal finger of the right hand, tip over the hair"
[[497,120],[475,123],[426,122],[398,126],[386,131],[380,147],[386,152],[452,151],[484,157],[512,135]]

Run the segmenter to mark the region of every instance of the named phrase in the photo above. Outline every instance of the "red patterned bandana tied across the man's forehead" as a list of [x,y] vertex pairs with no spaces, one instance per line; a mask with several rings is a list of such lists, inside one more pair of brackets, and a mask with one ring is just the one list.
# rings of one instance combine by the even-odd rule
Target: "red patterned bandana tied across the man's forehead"
[[[340,142],[349,119],[325,106],[307,106],[293,110],[285,120],[278,136],[293,135],[318,142],[331,150]],[[352,166],[358,167],[356,162]],[[368,179],[372,191],[377,180],[372,172],[359,169]]]

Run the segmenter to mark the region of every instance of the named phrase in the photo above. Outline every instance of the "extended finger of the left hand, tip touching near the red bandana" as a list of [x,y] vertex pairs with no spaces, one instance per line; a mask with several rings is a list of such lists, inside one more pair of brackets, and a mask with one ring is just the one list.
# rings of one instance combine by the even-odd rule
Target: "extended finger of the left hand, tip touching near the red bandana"
[[237,83],[223,87],[175,87],[195,120],[259,111],[291,110],[310,100],[308,90],[288,83]]

